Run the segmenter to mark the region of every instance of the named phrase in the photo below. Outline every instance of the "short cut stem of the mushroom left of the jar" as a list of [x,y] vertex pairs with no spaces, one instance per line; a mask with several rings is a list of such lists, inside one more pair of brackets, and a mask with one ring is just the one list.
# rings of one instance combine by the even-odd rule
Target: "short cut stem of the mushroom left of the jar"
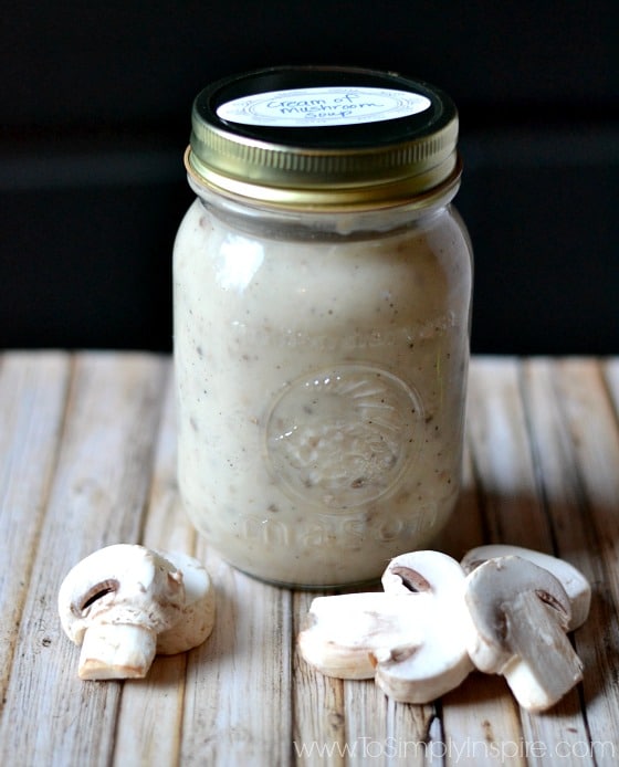
[[99,623],[84,634],[78,676],[83,680],[141,679],[157,650],[157,634],[145,626]]

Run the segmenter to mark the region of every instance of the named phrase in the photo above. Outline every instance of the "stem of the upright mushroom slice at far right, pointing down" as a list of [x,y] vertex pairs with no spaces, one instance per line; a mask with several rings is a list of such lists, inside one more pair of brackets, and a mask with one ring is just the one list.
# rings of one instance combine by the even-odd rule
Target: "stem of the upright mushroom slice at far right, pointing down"
[[552,610],[535,592],[523,591],[506,616],[514,656],[501,673],[528,711],[550,707],[583,679],[583,663]]

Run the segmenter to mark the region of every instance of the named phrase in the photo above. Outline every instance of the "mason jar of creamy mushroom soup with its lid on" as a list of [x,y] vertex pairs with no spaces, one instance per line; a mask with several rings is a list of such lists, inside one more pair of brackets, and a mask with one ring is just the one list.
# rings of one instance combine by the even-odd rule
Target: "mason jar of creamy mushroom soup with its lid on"
[[175,243],[178,480],[239,569],[360,584],[458,498],[472,258],[427,84],[277,67],[195,102]]

